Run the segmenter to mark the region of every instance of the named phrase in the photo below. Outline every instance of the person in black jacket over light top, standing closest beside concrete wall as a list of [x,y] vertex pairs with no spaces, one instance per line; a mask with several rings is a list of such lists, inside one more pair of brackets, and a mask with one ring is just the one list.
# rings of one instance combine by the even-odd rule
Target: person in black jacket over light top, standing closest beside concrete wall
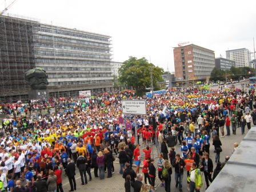
[[213,182],[211,179],[211,174],[213,174],[213,161],[209,158],[208,153],[203,154],[205,157],[202,159],[201,171],[205,175],[206,189],[209,187],[209,181]]

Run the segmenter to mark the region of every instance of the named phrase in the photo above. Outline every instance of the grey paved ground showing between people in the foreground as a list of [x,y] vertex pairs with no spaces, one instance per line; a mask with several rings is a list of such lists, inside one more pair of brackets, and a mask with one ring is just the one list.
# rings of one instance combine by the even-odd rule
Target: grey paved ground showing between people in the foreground
[[[247,133],[248,129],[246,128],[245,133]],[[231,151],[233,150],[233,144],[235,142],[241,142],[242,138],[244,135],[241,134],[241,128],[237,129],[237,135],[231,135],[229,137],[225,137],[225,138],[221,138],[221,142],[222,142],[222,153],[221,153],[221,162],[223,162],[225,160],[225,156],[226,155],[231,155]],[[212,139],[210,140],[210,144],[212,144]],[[154,158],[157,159],[157,150],[156,147],[153,146],[154,149]],[[177,145],[176,148],[177,153],[180,152],[179,150],[179,146]],[[215,153],[213,153],[214,151],[214,147],[211,145],[210,146],[210,158],[213,159],[214,162],[214,167],[216,165],[215,163]],[[86,186],[82,186],[81,185],[81,178],[79,175],[78,170],[76,171],[77,175],[76,175],[76,181],[77,181],[77,192],[82,192],[84,190],[90,190],[90,191],[111,191],[111,192],[115,192],[115,191],[125,191],[124,189],[124,183],[125,180],[122,178],[122,175],[118,175],[117,171],[119,171],[119,163],[118,163],[118,159],[116,160],[116,162],[114,163],[114,167],[115,167],[115,173],[113,174],[112,178],[106,178],[107,174],[105,174],[105,179],[104,180],[100,180],[99,178],[94,178],[94,175],[92,173],[93,176],[93,180],[88,182],[88,185]],[[174,169],[173,169],[174,171]],[[175,188],[175,182],[174,182],[174,173],[171,176],[171,191],[179,191],[178,188]],[[183,191],[187,191],[187,175],[186,175],[186,171],[184,171],[184,177],[183,177]],[[67,179],[67,177],[63,176],[63,189],[65,191],[70,190],[70,185],[69,185],[69,181]],[[159,187],[159,179],[156,179],[156,187],[157,187],[157,191],[165,191],[165,189],[163,187]],[[205,184],[205,179],[203,177],[203,187],[201,189],[201,191],[205,191],[206,188],[206,184]]]

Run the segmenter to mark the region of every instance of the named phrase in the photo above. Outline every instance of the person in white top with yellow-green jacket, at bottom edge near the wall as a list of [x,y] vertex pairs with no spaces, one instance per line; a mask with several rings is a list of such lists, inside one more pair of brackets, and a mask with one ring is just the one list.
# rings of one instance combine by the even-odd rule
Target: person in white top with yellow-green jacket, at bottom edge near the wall
[[191,169],[189,171],[189,177],[187,181],[190,182],[190,192],[199,192],[200,188],[203,186],[201,171],[197,167],[197,163],[191,163]]

